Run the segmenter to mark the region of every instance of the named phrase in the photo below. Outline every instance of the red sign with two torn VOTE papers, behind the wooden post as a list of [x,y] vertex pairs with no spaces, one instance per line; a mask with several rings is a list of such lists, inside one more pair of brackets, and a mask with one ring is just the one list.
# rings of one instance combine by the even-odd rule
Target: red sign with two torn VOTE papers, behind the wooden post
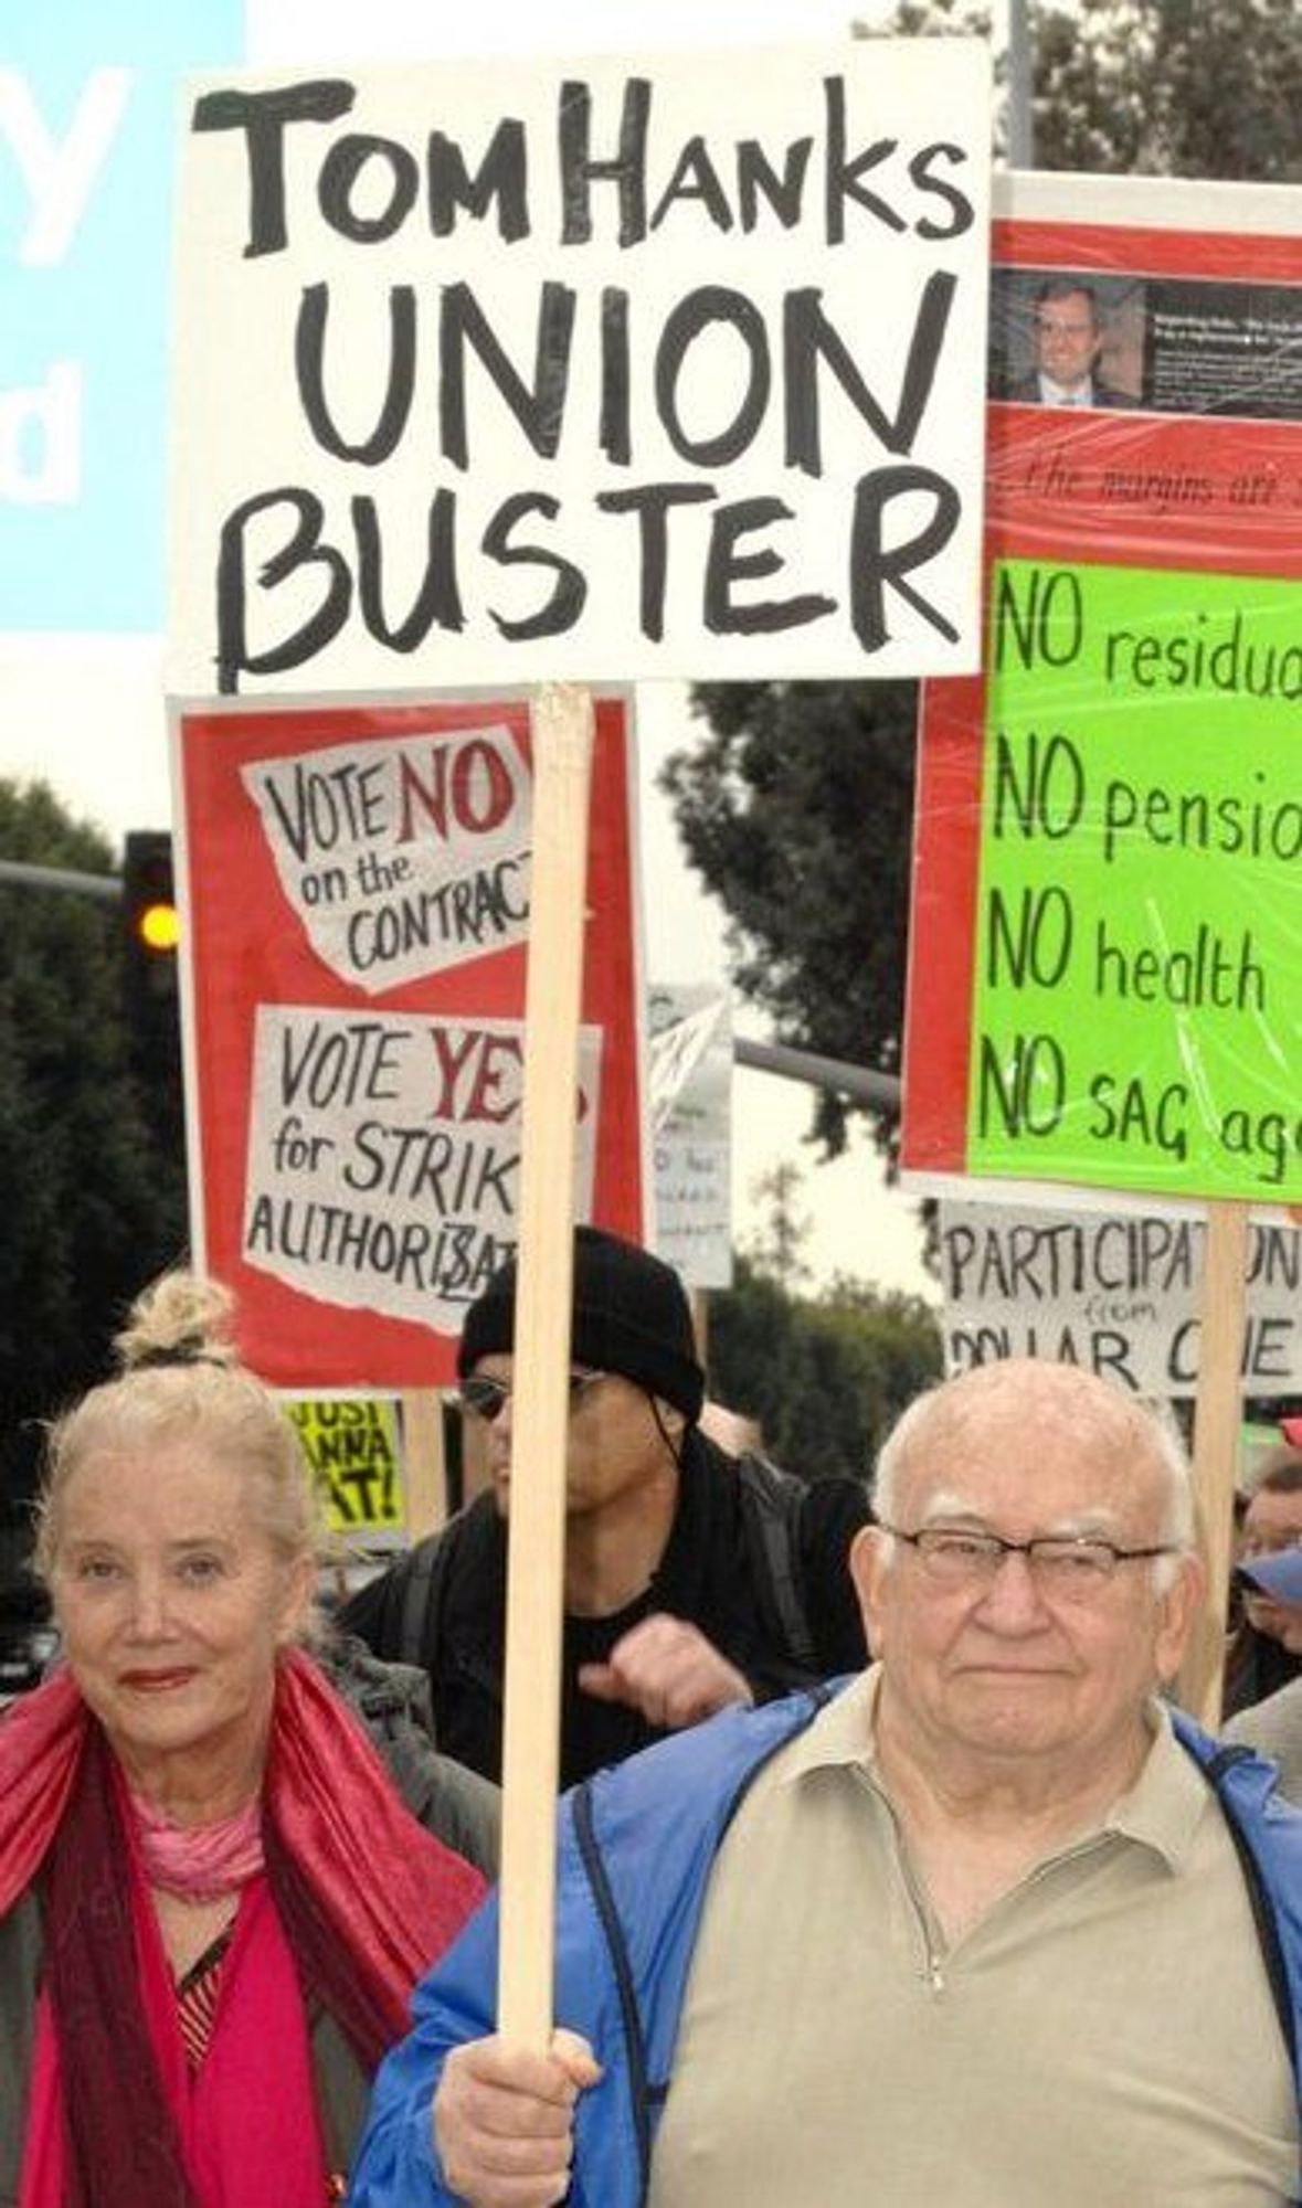
[[[644,1232],[629,707],[600,696],[578,1214]],[[177,711],[196,1259],[271,1382],[435,1387],[516,1245],[527,698]]]

